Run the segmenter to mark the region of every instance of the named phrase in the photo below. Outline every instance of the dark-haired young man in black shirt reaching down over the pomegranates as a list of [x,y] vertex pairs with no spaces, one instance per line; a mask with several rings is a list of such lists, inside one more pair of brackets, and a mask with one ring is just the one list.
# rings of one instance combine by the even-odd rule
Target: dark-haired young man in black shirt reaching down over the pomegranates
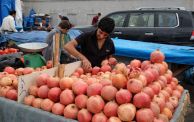
[[[114,30],[115,22],[111,18],[102,18],[96,30],[82,33],[64,48],[74,57],[82,61],[85,71],[91,70],[94,66],[100,66],[102,60],[109,58],[115,53],[113,41],[109,34]],[[76,47],[80,51],[76,50]]]

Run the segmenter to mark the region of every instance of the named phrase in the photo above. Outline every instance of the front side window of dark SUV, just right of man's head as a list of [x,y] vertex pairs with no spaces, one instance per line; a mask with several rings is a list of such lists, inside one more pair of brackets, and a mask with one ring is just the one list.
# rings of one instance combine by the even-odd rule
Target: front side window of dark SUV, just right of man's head
[[109,17],[115,21],[115,27],[123,27],[127,13],[116,13]]

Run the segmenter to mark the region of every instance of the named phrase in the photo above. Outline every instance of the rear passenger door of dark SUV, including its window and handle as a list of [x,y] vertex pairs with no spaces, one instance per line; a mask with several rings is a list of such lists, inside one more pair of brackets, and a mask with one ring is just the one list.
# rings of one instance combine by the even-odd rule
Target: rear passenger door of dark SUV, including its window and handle
[[125,25],[124,34],[130,40],[155,41],[154,18],[153,12],[131,12]]

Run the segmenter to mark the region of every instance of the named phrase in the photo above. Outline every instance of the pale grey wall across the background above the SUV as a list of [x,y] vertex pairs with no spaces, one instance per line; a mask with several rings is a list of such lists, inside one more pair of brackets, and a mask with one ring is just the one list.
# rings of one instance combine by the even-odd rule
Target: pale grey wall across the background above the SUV
[[[53,18],[66,15],[75,25],[88,25],[92,17],[101,12],[102,16],[117,10],[139,7],[185,7],[194,10],[194,0],[24,0],[25,14],[31,8],[37,13],[48,13]],[[59,20],[53,19],[56,24]]]

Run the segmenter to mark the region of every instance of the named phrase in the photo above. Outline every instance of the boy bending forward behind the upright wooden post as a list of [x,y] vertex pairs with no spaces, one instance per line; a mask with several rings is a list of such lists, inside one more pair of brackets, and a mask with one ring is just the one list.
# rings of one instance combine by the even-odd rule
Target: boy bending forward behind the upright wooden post
[[[70,29],[70,23],[68,21],[61,21],[56,28],[49,32],[48,36],[46,37],[45,42],[48,44],[48,47],[43,50],[43,57],[46,61],[52,60],[53,55],[53,36],[58,32],[60,37],[62,34],[67,34],[68,30]],[[63,50],[63,46],[65,44],[64,38],[60,38],[60,52]],[[59,59],[60,60],[60,59]]]

